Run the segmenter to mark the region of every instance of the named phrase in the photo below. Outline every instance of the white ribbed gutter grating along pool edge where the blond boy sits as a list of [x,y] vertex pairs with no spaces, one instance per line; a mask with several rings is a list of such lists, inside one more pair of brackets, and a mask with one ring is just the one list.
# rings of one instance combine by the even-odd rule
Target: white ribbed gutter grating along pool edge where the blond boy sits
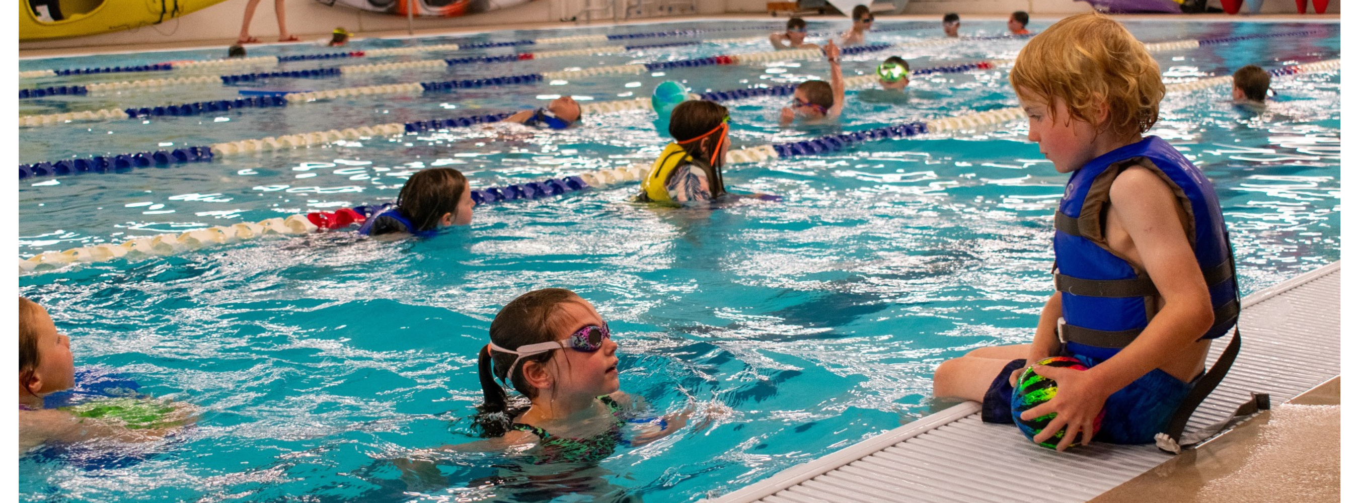
[[[1241,337],[1235,364],[1189,430],[1230,415],[1252,392],[1279,404],[1340,375],[1340,261],[1243,299]],[[1229,340],[1214,341],[1212,358]],[[1170,459],[1152,445],[1052,451],[1011,424],[983,423],[980,411],[950,406],[708,502],[1086,502]]]

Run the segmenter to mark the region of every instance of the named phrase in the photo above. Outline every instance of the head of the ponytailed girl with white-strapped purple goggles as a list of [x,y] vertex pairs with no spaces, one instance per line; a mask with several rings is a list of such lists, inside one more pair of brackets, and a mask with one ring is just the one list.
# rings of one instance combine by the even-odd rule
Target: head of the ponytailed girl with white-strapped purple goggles
[[[510,300],[491,321],[491,343],[518,351],[530,344],[561,341],[569,347],[572,334],[587,326],[605,326],[594,306],[565,288],[542,288]],[[597,351],[568,351],[567,347],[526,353],[481,348],[478,375],[485,397],[482,412],[506,412],[508,400],[496,379],[508,382],[534,404],[595,398],[618,390],[618,348],[602,339]],[[515,362],[518,360],[518,363]]]

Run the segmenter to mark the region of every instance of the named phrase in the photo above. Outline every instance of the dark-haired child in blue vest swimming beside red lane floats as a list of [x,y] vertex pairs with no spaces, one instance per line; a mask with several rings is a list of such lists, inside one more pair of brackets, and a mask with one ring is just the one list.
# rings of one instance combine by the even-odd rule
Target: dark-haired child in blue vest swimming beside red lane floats
[[421,170],[406,179],[397,196],[397,211],[416,228],[406,230],[395,219],[378,218],[372,222],[371,235],[389,232],[419,232],[439,227],[444,213],[458,216],[458,201],[467,190],[467,177],[451,167]]

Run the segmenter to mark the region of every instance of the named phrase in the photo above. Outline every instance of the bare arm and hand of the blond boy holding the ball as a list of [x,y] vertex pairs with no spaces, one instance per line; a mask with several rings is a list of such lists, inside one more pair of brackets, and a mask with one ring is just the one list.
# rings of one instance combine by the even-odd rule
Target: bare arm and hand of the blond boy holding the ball
[[[1109,222],[1117,219],[1127,230],[1165,307],[1132,344],[1090,370],[1034,367],[1040,375],[1057,381],[1061,393],[1021,417],[1056,412],[1048,427],[1034,435],[1034,442],[1046,440],[1061,427],[1071,426],[1057,443],[1059,450],[1071,445],[1076,431],[1093,431],[1094,419],[1110,394],[1169,363],[1208,332],[1214,321],[1208,284],[1180,224],[1180,204],[1170,188],[1150,170],[1132,167],[1114,179],[1109,200]],[[1084,443],[1090,436],[1080,435]]]

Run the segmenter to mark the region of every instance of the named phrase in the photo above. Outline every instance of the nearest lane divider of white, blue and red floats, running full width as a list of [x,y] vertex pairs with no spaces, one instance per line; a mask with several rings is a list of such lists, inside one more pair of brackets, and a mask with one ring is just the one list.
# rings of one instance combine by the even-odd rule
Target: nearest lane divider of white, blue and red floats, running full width
[[[1340,68],[1340,60],[1326,60],[1301,65],[1288,65],[1275,71],[1272,75],[1296,75]],[[1201,90],[1205,86],[1222,86],[1230,83],[1230,77],[1201,79],[1208,84],[1199,86],[1196,82],[1166,86],[1167,92],[1186,92]],[[758,145],[731,151],[727,154],[730,163],[760,162],[771,158],[788,158],[796,155],[815,155],[841,150],[853,143],[915,137],[925,133],[940,133],[946,131],[974,129],[995,126],[1008,121],[1023,118],[1023,109],[1008,107],[961,117],[949,117],[930,121],[916,121],[892,126],[875,128],[853,132],[848,135],[830,135],[815,140],[794,141],[776,145]],[[492,116],[487,116],[492,117]],[[631,164],[597,170],[567,177],[548,179],[544,182],[515,184],[506,188],[474,189],[473,201],[478,205],[489,203],[541,198],[587,190],[590,188],[603,188],[613,184],[632,182],[641,179],[650,170],[646,164]],[[137,258],[154,256],[170,256],[182,252],[197,250],[215,245],[235,243],[264,237],[311,234],[321,228],[347,228],[359,223],[357,218],[368,218],[381,207],[364,205],[341,209],[338,212],[317,212],[308,215],[289,215],[287,218],[273,218],[257,223],[236,223],[232,226],[216,226],[179,234],[160,234],[154,237],[135,238],[120,245],[102,243],[94,246],[73,247],[64,252],[48,252],[29,258],[19,258],[19,275],[56,271],[71,264],[106,262],[117,258]]]

